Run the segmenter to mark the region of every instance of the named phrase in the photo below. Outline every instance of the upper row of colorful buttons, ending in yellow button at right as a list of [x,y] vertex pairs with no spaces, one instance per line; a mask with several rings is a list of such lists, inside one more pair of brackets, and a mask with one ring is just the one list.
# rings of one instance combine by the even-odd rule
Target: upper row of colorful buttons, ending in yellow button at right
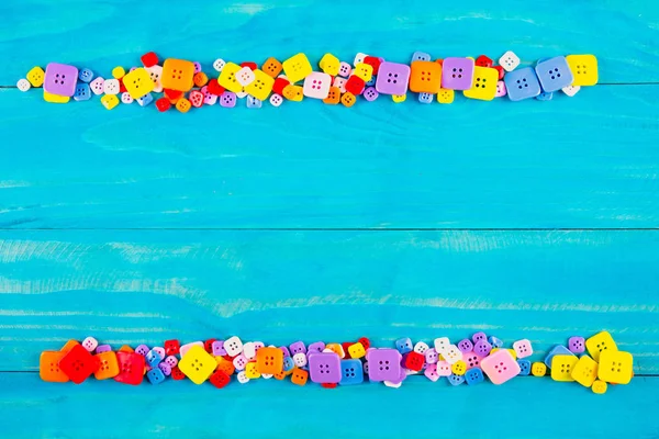
[[[503,76],[503,68],[499,70],[491,68],[492,60],[484,56],[480,56],[476,61],[471,58],[446,58],[443,61],[432,63],[425,60],[426,55],[415,54],[412,67],[364,56],[366,63],[357,63],[362,59],[356,59],[354,70],[346,63],[338,63],[336,57],[330,54],[325,55],[320,65],[327,71],[334,72],[333,70],[337,70],[338,74],[348,74],[349,78],[347,80],[342,77],[333,79],[327,72],[312,71],[311,64],[303,54],[298,54],[283,64],[270,58],[264,65],[264,70],[253,70],[253,67],[256,68],[255,64],[252,66],[253,63],[244,63],[238,66],[233,63],[227,64],[223,60],[216,60],[214,66],[221,72],[214,87],[216,91],[214,92],[213,87],[209,87],[208,91],[202,90],[198,97],[190,99],[192,105],[183,100],[183,104],[179,105],[179,110],[201,106],[204,103],[203,101],[211,103],[212,98],[209,94],[211,97],[222,95],[224,89],[236,93],[238,97],[241,93],[249,93],[254,98],[252,102],[248,102],[248,106],[252,108],[260,106],[260,101],[266,100],[273,90],[276,94],[279,94],[279,97],[271,100],[275,105],[281,103],[281,95],[293,101],[299,101],[305,95],[323,99],[326,103],[338,103],[339,92],[343,92],[346,95],[340,101],[350,106],[358,94],[364,94],[369,101],[377,99],[379,93],[392,94],[394,101],[401,102],[404,100],[407,86],[410,90],[420,92],[420,101],[426,103],[432,102],[434,94],[438,94],[439,102],[450,103],[454,90],[463,90],[465,95],[468,98],[483,100],[491,100],[495,95],[504,95],[506,89],[510,90],[507,94],[512,100],[539,97],[541,90],[544,91],[539,98],[547,100],[550,99],[551,92],[561,88],[568,94],[573,95],[577,90],[573,86],[578,87],[578,85],[573,83],[572,68],[576,68],[578,77],[581,78],[579,85],[596,82],[596,59],[592,55],[572,55],[567,58],[555,57],[541,60],[535,70],[532,68],[521,69],[509,77],[507,82],[496,81]],[[333,59],[327,59],[327,57]],[[429,59],[429,56],[427,57]],[[507,59],[504,64],[509,70],[511,66],[518,64],[518,58],[512,53],[505,54],[502,59]],[[516,59],[516,64],[511,63],[510,59]],[[67,102],[67,98],[71,95],[76,100],[87,100],[91,97],[91,92],[94,94],[103,92],[118,94],[122,91],[122,88],[125,88],[126,91],[122,95],[122,102],[131,103],[133,100],[138,100],[142,105],[147,105],[153,101],[153,98],[150,95],[148,98],[144,97],[152,91],[158,92],[165,88],[185,92],[193,86],[205,87],[209,81],[208,76],[201,71],[199,63],[166,59],[164,67],[160,67],[152,65],[150,63],[154,60],[157,61],[157,57],[149,63],[145,63],[145,68],[133,68],[129,74],[125,74],[123,68],[115,68],[113,71],[115,79],[107,81],[102,78],[91,81],[93,72],[89,69],[83,69],[78,74],[74,66],[52,63],[47,66],[45,72],[38,67],[32,69],[27,74],[29,80],[19,81],[19,88],[26,90],[31,83],[35,87],[43,83],[44,98],[51,102]],[[288,71],[287,65],[289,66]],[[443,66],[444,74],[442,74]],[[289,74],[289,78],[275,77],[281,69]],[[373,72],[378,74],[379,79],[377,81]],[[584,79],[587,76],[588,79]],[[76,77],[79,77],[82,81],[78,87],[76,87]],[[304,87],[293,86],[297,80],[302,79],[304,79]],[[490,79],[490,82],[488,82],[488,79]],[[279,87],[276,86],[278,80],[280,82]],[[87,85],[89,81],[91,81],[91,85]],[[375,87],[366,88],[369,81],[372,81]],[[570,86],[570,83],[573,83],[573,86]],[[284,92],[286,87],[289,88],[287,92]],[[214,99],[216,101],[216,98]],[[196,101],[199,102],[199,105],[194,105]],[[235,105],[235,98],[232,95],[228,95],[224,101],[221,100],[221,104],[226,104],[224,106],[233,106],[232,103]],[[111,109],[119,104],[119,99],[104,97],[102,102]]]

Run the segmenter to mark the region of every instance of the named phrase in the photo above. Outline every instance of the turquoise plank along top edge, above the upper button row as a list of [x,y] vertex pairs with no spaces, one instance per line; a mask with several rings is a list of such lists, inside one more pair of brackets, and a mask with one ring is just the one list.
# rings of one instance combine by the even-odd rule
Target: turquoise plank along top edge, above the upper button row
[[300,50],[319,59],[365,52],[407,60],[515,50],[525,61],[593,53],[603,82],[659,81],[659,7],[647,0],[501,1],[436,5],[428,1],[348,2],[266,0],[130,1],[4,0],[0,4],[0,85],[14,85],[52,60],[108,76],[147,50],[206,66],[216,58],[258,63]]

